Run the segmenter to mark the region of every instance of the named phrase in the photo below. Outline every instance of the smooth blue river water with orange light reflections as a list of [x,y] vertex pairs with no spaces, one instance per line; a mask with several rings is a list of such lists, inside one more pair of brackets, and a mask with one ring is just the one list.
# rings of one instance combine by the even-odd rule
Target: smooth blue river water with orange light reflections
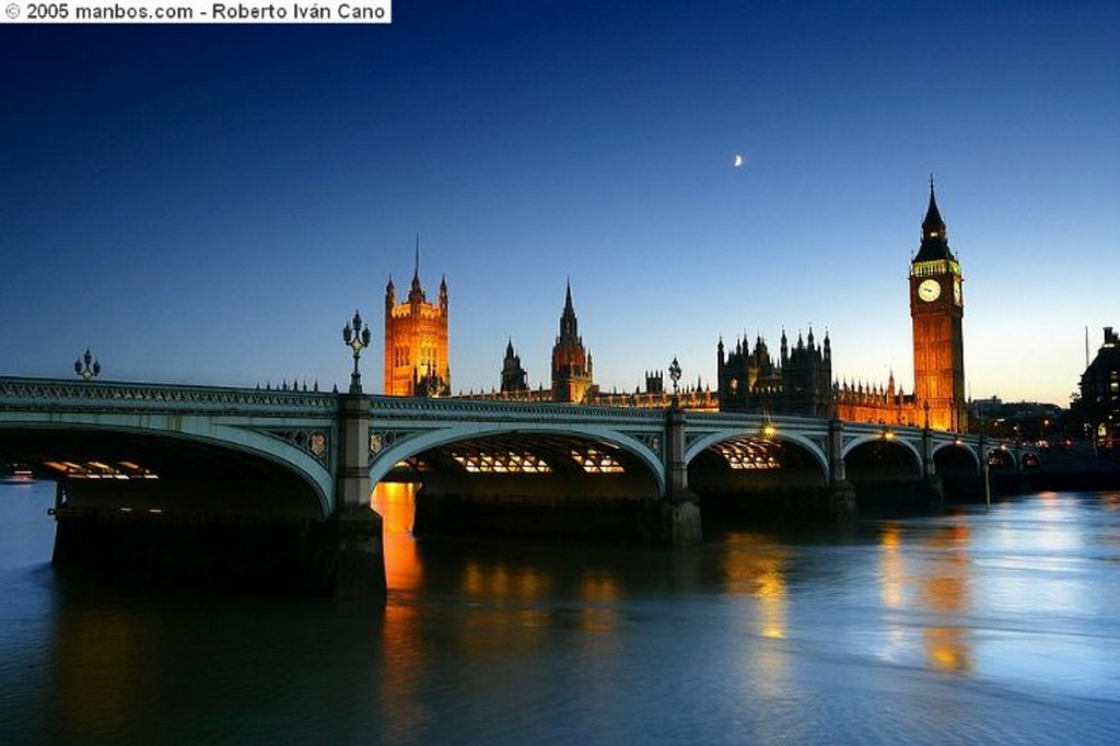
[[1120,493],[688,550],[413,539],[388,602],[58,577],[0,486],[0,744],[1120,743]]

